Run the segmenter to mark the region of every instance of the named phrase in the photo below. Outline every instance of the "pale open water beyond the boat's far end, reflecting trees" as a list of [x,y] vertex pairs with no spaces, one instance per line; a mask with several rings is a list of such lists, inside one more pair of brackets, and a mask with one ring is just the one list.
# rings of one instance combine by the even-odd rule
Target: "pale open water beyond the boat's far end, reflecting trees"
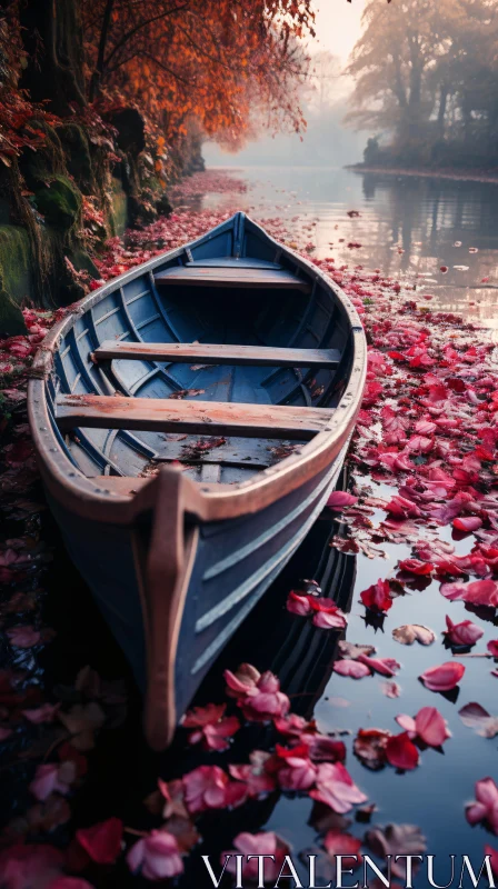
[[[302,167],[236,174],[251,184],[237,202],[256,218],[278,216],[289,224],[299,213],[292,224],[315,244],[312,256],[379,268],[418,299],[431,296],[431,308],[498,328],[497,183]],[[203,203],[229,204],[233,196],[207,196]],[[349,218],[351,209],[360,216]]]

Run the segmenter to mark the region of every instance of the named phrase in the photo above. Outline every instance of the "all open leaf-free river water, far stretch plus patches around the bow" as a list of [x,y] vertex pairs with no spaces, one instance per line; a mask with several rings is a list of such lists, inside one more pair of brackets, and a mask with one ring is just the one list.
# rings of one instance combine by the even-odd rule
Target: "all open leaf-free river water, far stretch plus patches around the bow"
[[[459,311],[468,320],[485,323],[487,331],[479,332],[479,337],[497,337],[497,184],[319,168],[233,169],[233,174],[247,181],[247,192],[208,193],[191,198],[192,207],[233,210],[237,206],[260,221],[282,220],[296,231],[296,246],[307,244],[311,257],[333,256],[338,267],[379,268],[386,274],[410,282],[418,297],[431,296],[432,301],[428,303],[431,308]],[[348,211],[357,211],[359,216],[350,217]],[[448,271],[442,272],[441,267],[447,267]],[[488,280],[482,281],[485,278]],[[366,479],[360,481],[365,483]],[[384,497],[390,492],[388,486],[382,490],[374,486],[374,490]],[[372,517],[375,522],[380,518],[384,513]],[[82,588],[82,581],[63,556],[58,532],[48,516],[46,522],[52,528],[57,553],[48,583],[51,590],[48,603],[52,612],[48,622],[58,631],[51,647],[53,653],[49,655],[51,666],[49,663],[47,669],[57,677],[62,690],[66,683],[72,682],[73,668],[86,662],[91,662],[103,676],[118,678],[121,669],[124,671],[120,655],[89,600],[88,591]],[[464,602],[449,605],[439,595],[438,583],[422,578],[406,585],[407,595],[396,600],[384,621],[367,626],[359,592],[392,573],[397,560],[410,553],[406,547],[387,543],[382,545],[386,559],[340,555],[330,547],[331,538],[340,530],[331,516],[323,516],[316,523],[282,576],[221,653],[196,703],[226,700],[222,671],[235,669],[241,661],[277,672],[291,698],[292,710],[307,719],[315,718],[321,732],[345,741],[347,769],[368,797],[368,805],[375,806],[370,821],[366,822],[366,812],[358,817],[351,811],[340,817],[331,815],[330,810],[320,810],[306,793],[276,792],[233,811],[210,812],[199,823],[203,842],[188,857],[180,889],[210,887],[201,853],[210,856],[218,872],[220,853],[232,849],[233,838],[245,830],[273,830],[290,843],[295,861],[303,850],[318,852],[320,861],[323,860],[323,835],[329,829],[347,830],[362,839],[368,830],[387,825],[411,825],[420,829],[425,842],[411,831],[410,848],[401,843],[397,852],[425,850],[436,855],[436,882],[441,886],[451,877],[448,856],[468,855],[478,869],[485,843],[498,849],[496,837],[481,826],[471,828],[465,818],[465,803],[474,799],[475,782],[487,776],[498,779],[497,738],[477,736],[462,725],[457,712],[464,705],[478,701],[490,713],[498,713],[498,680],[490,677],[491,662],[468,658],[465,681],[457,695],[432,693],[418,679],[428,667],[451,658],[441,636],[448,611],[455,622],[468,618],[478,621],[485,633],[477,646],[480,651],[486,650],[488,640],[498,638],[496,622],[489,615],[469,613]],[[449,539],[448,530],[441,531],[441,536],[446,532]],[[464,547],[468,549],[469,546],[461,542],[457,551],[462,552]],[[317,579],[323,595],[335,598],[348,612],[346,638],[349,642],[375,645],[379,657],[400,662],[401,670],[396,677],[401,688],[399,698],[388,698],[384,693],[380,676],[355,681],[332,672],[338,653],[337,633],[315,629],[309,621],[289,615],[285,608],[288,591],[298,588],[302,578]],[[392,639],[396,627],[412,622],[428,625],[437,632],[437,640],[430,648],[404,647]],[[18,659],[21,656],[29,666],[30,651],[18,652]],[[20,668],[23,663],[16,666]],[[396,733],[397,715],[415,716],[426,706],[437,707],[450,725],[452,737],[444,749],[421,751],[419,767],[408,772],[398,772],[391,767],[372,771],[357,759],[353,738],[360,728],[380,728]],[[108,740],[91,752],[89,779],[74,802],[77,825],[88,826],[119,815],[133,829],[158,827],[158,819],[151,819],[142,805],[158,776],[179,777],[200,763],[220,765],[226,769],[228,762],[247,762],[251,750],[270,749],[275,743],[270,729],[255,725],[236,735],[228,753],[199,753],[186,746],[185,732],[180,731],[172,749],[157,756],[145,748],[140,701],[135,698],[127,722],[123,726],[118,722],[106,737]],[[9,800],[14,815],[21,813],[28,805],[26,783],[31,772],[24,769],[19,758],[12,777],[4,781],[4,800]],[[62,840],[64,838],[68,842],[69,835]],[[377,861],[380,863],[379,859]],[[306,887],[307,868],[303,865],[299,868]],[[325,871],[320,865],[319,872],[325,879],[317,886],[327,885],[330,879]],[[135,889],[146,885],[145,880],[131,877],[122,862],[112,872],[96,873],[94,878],[92,872],[89,879],[99,889]],[[356,877],[347,877],[345,886],[353,886],[355,881]],[[280,886],[289,883],[293,889],[291,880],[281,881]],[[394,885],[402,885],[402,880]],[[416,889],[428,886],[424,871],[414,885]],[[468,879],[464,882],[464,887],[470,885]],[[223,886],[228,889],[230,881]],[[458,886],[458,877],[454,886]]]

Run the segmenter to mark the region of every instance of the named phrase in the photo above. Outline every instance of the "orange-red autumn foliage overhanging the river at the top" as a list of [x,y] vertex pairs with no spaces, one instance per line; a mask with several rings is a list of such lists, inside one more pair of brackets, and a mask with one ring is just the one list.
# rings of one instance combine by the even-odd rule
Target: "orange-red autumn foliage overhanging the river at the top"
[[119,93],[167,136],[195,116],[238,138],[256,108],[299,129],[297,39],[312,32],[309,0],[82,0],[89,96]]

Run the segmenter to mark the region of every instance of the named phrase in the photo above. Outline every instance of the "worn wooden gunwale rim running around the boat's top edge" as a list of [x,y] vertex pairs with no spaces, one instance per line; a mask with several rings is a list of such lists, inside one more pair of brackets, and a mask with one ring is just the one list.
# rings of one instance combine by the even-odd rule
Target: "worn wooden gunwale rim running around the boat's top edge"
[[[238,214],[229,217],[215,229],[206,232],[189,243],[175,250],[161,253],[141,266],[128,270],[118,278],[108,281],[90,296],[77,303],[76,310],[62,318],[41,342],[31,368],[28,384],[28,414],[42,479],[50,493],[67,509],[86,518],[112,525],[133,523],[135,517],[155,502],[155,478],[143,483],[142,479],[130,478],[136,491],[127,495],[114,492],[104,485],[102,477],[88,478],[76,469],[62,451],[51,426],[46,396],[46,381],[52,370],[53,356],[61,338],[69,332],[79,318],[112,293],[117,288],[129,283],[142,274],[150,273],[158,266],[177,259],[189,249],[210,240],[217,233],[235,222]],[[367,373],[367,342],[360,318],[350,299],[333,281],[330,281],[309,260],[296,253],[291,248],[279,243],[250,217],[245,216],[246,223],[256,229],[276,251],[281,250],[296,266],[311,276],[315,281],[322,281],[332,291],[346,311],[351,338],[351,361],[349,380],[342,397],[333,409],[330,420],[323,430],[298,450],[272,467],[261,470],[252,478],[236,485],[197,482],[182,477],[182,492],[186,511],[205,521],[236,518],[257,512],[270,503],[281,499],[300,487],[309,478],[329,465],[340,452],[350,436],[359,411]],[[179,471],[170,467],[162,472]],[[112,478],[112,477],[110,477]]]

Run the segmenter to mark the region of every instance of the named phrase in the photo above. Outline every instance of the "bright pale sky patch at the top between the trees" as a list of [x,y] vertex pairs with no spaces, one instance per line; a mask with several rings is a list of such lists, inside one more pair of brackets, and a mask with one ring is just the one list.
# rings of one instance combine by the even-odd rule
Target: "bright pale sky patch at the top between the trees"
[[361,31],[366,0],[316,0],[316,49],[328,49],[346,62]]

